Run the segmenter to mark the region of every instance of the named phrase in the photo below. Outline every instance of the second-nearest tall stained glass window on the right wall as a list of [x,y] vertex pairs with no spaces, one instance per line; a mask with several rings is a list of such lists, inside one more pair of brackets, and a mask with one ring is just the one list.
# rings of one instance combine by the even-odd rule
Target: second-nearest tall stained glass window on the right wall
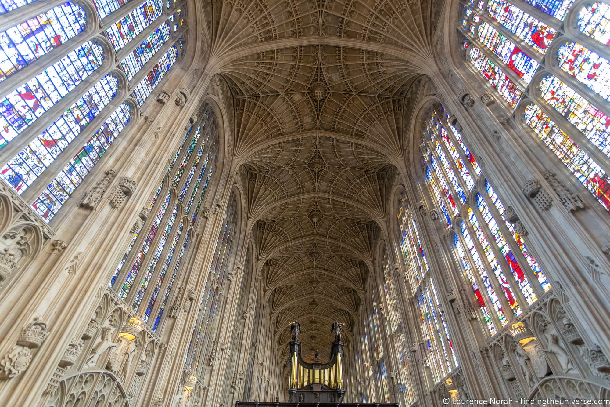
[[[441,211],[455,205],[456,210],[443,212],[443,221],[451,230],[451,244],[479,304],[481,319],[493,336],[535,303],[550,284],[451,124],[450,114],[436,105],[425,120],[424,176],[432,201]],[[438,185],[443,185],[442,191]]]

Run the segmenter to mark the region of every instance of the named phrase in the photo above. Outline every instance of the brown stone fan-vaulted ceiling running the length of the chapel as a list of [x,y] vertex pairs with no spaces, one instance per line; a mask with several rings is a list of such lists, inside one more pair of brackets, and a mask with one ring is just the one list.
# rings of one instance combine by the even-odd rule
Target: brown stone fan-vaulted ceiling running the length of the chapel
[[404,96],[434,68],[432,0],[212,0],[210,57],[234,97],[248,227],[285,348],[329,350],[353,330],[374,237],[404,168]]

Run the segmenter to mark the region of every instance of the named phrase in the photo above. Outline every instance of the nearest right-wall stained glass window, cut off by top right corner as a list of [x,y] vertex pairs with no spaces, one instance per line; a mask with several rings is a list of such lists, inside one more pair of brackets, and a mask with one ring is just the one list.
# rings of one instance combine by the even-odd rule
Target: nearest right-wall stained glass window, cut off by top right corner
[[609,3],[472,0],[461,20],[467,65],[610,211]]

